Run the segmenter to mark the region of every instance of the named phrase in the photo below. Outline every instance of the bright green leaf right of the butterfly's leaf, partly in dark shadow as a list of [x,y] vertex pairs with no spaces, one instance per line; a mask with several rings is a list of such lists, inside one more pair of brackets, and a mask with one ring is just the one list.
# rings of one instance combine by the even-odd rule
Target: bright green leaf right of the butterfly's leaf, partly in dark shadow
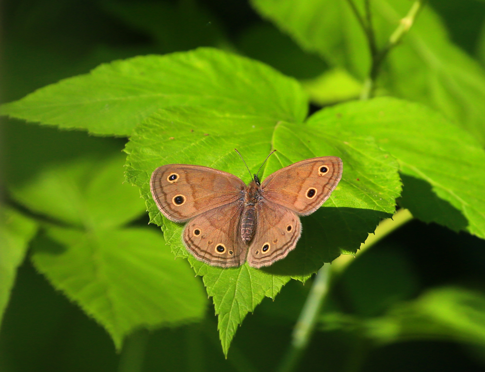
[[464,130],[420,104],[391,98],[345,103],[308,121],[372,135],[398,159],[401,204],[413,216],[485,238],[485,152]]

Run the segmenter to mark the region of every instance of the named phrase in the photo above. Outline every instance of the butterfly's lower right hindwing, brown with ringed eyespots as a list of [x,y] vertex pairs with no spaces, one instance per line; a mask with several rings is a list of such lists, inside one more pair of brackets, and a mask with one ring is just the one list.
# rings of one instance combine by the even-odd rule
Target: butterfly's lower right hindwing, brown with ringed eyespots
[[284,206],[261,200],[258,204],[258,227],[249,247],[249,266],[269,266],[286,257],[301,235],[300,218]]

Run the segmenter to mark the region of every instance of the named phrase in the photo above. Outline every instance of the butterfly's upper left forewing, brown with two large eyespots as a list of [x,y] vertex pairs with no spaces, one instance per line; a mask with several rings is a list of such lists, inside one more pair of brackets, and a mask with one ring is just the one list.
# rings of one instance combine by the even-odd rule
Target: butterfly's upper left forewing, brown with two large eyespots
[[155,169],[150,190],[158,209],[169,220],[184,222],[244,196],[236,176],[208,167],[169,164]]

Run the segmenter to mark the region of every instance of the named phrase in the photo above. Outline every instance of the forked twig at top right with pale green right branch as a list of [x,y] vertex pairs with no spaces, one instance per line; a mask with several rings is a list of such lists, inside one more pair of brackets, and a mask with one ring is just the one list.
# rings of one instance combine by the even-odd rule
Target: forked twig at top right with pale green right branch
[[[375,46],[375,37],[372,28],[372,16],[369,1],[370,0],[365,0],[365,9],[368,22],[367,27],[363,25],[363,22],[361,21],[362,17],[360,15],[356,16],[359,23],[363,25],[362,27],[364,27],[364,32],[367,35],[369,41],[372,58],[371,71],[369,73],[369,76],[365,80],[362,87],[362,92],[360,93],[361,100],[368,100],[372,98],[374,94],[375,81],[377,79],[377,76],[379,75],[381,64],[384,61],[384,58],[387,56],[388,52],[392,48],[399,44],[403,36],[409,31],[425,2],[425,0],[414,1],[413,5],[411,5],[411,8],[407,12],[407,15],[400,20],[398,27],[389,37],[387,45],[381,51],[378,51],[377,47]],[[353,9],[355,9],[355,5]],[[354,10],[354,13],[356,13],[356,9]]]

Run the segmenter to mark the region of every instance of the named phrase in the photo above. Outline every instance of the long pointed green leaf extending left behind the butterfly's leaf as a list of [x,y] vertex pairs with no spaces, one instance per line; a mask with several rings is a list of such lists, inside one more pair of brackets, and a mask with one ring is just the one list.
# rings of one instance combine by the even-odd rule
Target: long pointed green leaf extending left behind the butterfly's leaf
[[101,65],[0,106],[9,115],[98,135],[130,135],[162,107],[201,105],[301,121],[307,100],[296,81],[266,65],[210,48]]

